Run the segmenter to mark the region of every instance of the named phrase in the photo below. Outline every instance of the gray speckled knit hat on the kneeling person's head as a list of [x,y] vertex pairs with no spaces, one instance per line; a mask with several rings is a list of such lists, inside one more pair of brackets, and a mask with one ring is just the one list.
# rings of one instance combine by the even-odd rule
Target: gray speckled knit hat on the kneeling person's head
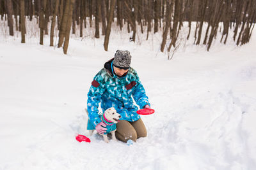
[[131,58],[132,56],[130,55],[129,51],[117,50],[115,53],[115,58],[113,60],[113,65],[120,69],[129,69],[131,64]]

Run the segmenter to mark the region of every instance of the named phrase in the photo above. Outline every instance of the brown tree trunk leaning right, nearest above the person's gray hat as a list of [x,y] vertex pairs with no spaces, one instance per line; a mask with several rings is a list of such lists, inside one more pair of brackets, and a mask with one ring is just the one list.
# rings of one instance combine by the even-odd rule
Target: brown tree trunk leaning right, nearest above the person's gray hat
[[111,0],[110,9],[108,12],[108,25],[107,25],[107,29],[106,29],[106,36],[104,39],[104,50],[105,51],[108,51],[109,35],[110,35],[110,30],[111,30],[112,18],[113,18],[113,14],[114,14],[114,10],[115,10],[115,4],[116,4],[116,0]]

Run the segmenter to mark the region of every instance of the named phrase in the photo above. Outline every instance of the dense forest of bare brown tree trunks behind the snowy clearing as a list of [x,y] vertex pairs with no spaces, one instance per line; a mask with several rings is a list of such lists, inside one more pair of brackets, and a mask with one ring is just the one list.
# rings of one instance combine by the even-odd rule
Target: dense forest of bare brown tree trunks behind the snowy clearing
[[179,47],[180,29],[187,25],[186,38],[193,38],[195,45],[203,44],[207,50],[218,30],[223,44],[227,43],[228,34],[237,46],[248,43],[256,18],[256,0],[0,0],[0,15],[1,20],[8,20],[5,34],[13,36],[13,30],[20,31],[21,43],[26,41],[25,23],[36,20],[40,45],[45,43],[45,34],[50,34],[50,46],[58,36],[58,48],[62,47],[65,54],[70,33],[79,31],[79,36],[86,38],[86,27],[93,28],[95,38],[104,36],[106,51],[113,22],[120,30],[127,27],[129,40],[134,42],[138,31],[147,34],[147,39],[150,32],[160,32],[159,50],[167,52],[171,59],[170,53]]

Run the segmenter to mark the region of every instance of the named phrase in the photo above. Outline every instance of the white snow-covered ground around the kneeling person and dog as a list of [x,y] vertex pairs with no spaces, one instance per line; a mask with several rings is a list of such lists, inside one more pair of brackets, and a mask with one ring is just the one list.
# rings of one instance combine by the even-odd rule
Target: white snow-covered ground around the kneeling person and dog
[[[256,31],[247,45],[187,44],[172,60],[159,52],[161,33],[136,43],[111,32],[70,39],[68,55],[38,38],[1,36],[0,169],[244,169],[256,167]],[[185,35],[186,37],[186,35]],[[192,40],[193,41],[193,40]],[[147,138],[131,146],[78,143],[86,131],[87,92],[115,51],[130,50],[153,115]]]

